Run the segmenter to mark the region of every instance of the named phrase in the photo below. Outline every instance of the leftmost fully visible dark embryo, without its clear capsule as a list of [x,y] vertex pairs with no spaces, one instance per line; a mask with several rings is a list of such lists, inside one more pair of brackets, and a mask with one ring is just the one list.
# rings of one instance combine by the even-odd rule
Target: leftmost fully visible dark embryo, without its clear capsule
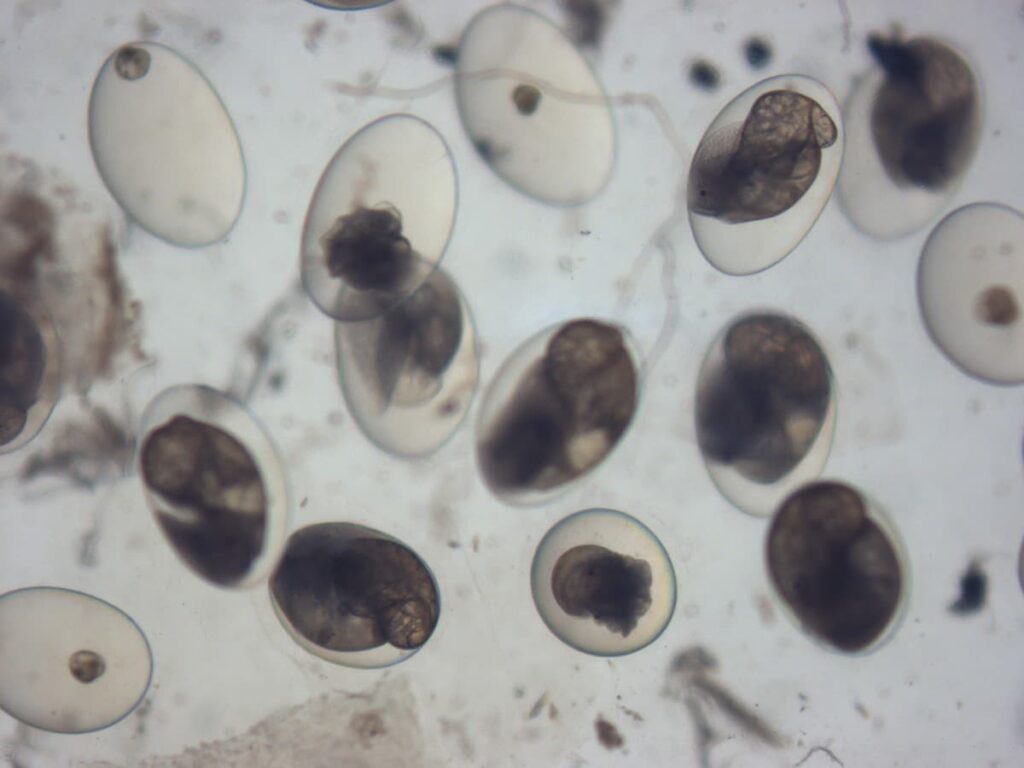
[[157,520],[185,562],[215,584],[243,578],[262,552],[267,516],[263,479],[246,447],[175,416],[146,436],[141,469],[146,486],[172,505],[158,506]]

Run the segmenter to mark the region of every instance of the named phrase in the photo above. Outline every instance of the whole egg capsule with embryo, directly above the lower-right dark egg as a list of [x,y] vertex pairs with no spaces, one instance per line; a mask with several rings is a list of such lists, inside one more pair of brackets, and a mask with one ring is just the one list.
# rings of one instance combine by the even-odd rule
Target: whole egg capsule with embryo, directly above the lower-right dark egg
[[755,312],[719,335],[697,380],[696,433],[722,495],[770,515],[824,468],[836,432],[828,358],[802,324]]

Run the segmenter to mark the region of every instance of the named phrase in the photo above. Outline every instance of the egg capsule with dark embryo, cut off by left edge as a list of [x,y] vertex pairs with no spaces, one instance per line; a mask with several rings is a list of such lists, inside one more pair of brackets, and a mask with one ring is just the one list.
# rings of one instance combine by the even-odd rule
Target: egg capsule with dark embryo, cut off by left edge
[[0,454],[39,434],[60,397],[60,347],[50,318],[0,289]]

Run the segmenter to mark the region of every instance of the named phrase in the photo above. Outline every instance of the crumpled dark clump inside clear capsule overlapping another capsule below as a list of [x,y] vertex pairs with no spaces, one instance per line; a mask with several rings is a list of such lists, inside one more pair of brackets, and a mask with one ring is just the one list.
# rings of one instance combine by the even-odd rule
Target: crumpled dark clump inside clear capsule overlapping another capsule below
[[401,214],[392,206],[339,216],[323,243],[331,276],[359,291],[398,290],[416,259],[401,234]]

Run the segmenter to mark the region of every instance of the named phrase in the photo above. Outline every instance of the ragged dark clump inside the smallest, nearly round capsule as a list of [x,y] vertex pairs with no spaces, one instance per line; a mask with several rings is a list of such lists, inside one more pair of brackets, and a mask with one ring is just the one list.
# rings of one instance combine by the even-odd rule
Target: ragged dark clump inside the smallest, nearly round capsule
[[591,616],[623,637],[650,609],[650,585],[646,560],[594,545],[567,550],[551,571],[551,591],[562,610]]

